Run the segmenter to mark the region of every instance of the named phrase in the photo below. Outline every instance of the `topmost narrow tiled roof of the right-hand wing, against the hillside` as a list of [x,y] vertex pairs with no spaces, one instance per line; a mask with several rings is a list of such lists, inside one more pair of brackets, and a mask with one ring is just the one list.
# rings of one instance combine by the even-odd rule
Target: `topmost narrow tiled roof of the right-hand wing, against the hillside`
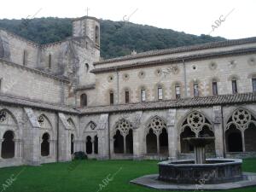
[[234,46],[239,44],[252,44],[252,43],[256,43],[256,37],[218,41],[218,42],[211,42],[207,44],[195,44],[195,45],[177,47],[172,49],[150,50],[143,53],[138,53],[136,55],[125,55],[125,56],[120,56],[120,57],[116,57],[108,60],[97,61],[94,63],[94,65],[100,65],[100,64],[116,62],[116,61],[132,60],[132,59],[148,57],[148,56],[167,55],[167,54],[182,53],[182,52],[201,50],[201,49],[212,49],[212,48],[220,48],[220,47],[228,47],[228,46]]

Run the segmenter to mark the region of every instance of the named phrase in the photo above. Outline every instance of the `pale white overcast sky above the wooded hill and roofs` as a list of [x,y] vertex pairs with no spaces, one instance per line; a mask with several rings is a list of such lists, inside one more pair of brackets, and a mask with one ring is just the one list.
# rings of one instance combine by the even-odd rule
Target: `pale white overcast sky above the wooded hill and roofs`
[[1,0],[0,6],[0,19],[74,18],[87,15],[89,8],[89,16],[104,20],[130,16],[133,23],[195,35],[256,36],[256,0]]

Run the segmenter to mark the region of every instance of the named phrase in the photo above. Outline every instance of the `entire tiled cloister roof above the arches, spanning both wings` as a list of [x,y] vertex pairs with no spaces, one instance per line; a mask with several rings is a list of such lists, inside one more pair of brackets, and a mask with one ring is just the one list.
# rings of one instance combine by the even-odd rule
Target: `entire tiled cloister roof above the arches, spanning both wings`
[[64,113],[76,114],[96,114],[96,113],[118,113],[130,112],[138,110],[158,110],[166,108],[199,108],[211,107],[214,105],[234,105],[234,104],[256,104],[256,93],[241,93],[236,95],[222,96],[202,96],[193,98],[181,98],[177,100],[166,100],[157,102],[138,102],[130,104],[119,104],[111,106],[73,108],[71,106],[53,104],[48,102],[40,102],[32,99],[22,98],[18,96],[9,96],[0,94],[0,103],[29,108],[43,108]]

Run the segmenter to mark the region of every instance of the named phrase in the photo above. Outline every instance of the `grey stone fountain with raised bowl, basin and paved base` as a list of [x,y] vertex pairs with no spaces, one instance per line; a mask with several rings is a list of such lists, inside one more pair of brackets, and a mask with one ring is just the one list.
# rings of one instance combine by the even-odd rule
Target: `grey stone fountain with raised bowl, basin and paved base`
[[167,160],[160,162],[159,175],[132,180],[154,189],[194,190],[236,189],[256,185],[256,173],[241,171],[240,159],[206,159],[206,146],[214,137],[188,137],[194,146],[195,160]]

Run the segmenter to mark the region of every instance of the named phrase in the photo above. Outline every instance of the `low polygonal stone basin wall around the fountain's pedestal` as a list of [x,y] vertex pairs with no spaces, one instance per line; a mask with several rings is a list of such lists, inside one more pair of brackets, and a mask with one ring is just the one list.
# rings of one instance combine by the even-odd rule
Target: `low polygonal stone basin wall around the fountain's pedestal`
[[160,162],[159,179],[171,183],[226,183],[242,179],[242,160],[207,159],[206,164],[195,160],[167,160]]

